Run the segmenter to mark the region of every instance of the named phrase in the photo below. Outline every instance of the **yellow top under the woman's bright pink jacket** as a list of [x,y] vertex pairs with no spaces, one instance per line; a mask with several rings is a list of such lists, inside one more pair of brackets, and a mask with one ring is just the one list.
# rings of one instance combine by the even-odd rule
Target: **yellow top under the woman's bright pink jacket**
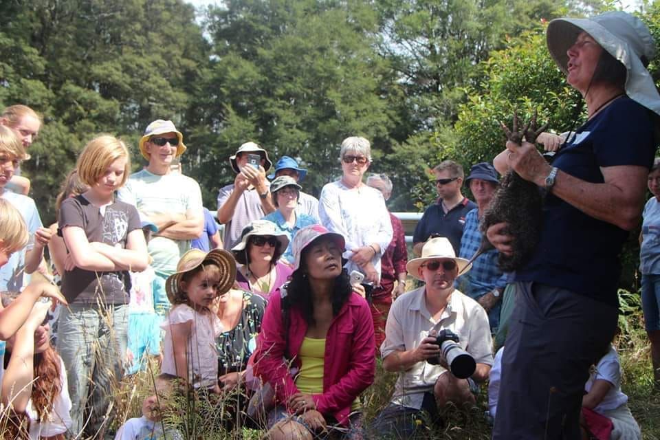
[[[325,339],[307,338],[298,351],[300,372],[296,377],[296,386],[300,393],[323,393],[323,366],[325,365]],[[351,410],[360,408],[360,400],[355,399]]]

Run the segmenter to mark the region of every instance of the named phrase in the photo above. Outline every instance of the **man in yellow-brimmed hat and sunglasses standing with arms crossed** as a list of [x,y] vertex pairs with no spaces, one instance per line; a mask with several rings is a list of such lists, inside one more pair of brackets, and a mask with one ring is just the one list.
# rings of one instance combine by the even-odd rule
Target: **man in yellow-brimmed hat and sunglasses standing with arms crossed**
[[135,205],[158,228],[148,250],[153,270],[167,278],[176,271],[181,255],[190,250],[190,240],[203,230],[201,190],[197,181],[172,172],[173,160],[186,151],[184,136],[172,121],[148,124],[139,146],[149,163],[129,177],[118,199]]

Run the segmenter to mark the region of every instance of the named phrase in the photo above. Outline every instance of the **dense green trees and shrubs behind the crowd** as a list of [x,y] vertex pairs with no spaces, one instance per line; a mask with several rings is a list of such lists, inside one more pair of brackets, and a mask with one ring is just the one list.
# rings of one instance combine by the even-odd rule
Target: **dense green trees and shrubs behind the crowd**
[[[659,4],[639,12],[658,41]],[[45,223],[87,140],[124,137],[138,168],[137,140],[157,118],[183,131],[184,173],[208,207],[233,180],[228,156],[243,142],[301,159],[305,190],[318,193],[339,173],[341,140],[364,135],[371,170],[395,184],[391,209],[421,210],[434,198],[428,168],[492,159],[503,146],[498,120],[514,109],[538,109],[556,131],[580,123],[581,99],[551,62],[544,28],[616,6],[227,0],[195,11],[181,0],[0,0],[0,104],[45,116],[23,166]]]

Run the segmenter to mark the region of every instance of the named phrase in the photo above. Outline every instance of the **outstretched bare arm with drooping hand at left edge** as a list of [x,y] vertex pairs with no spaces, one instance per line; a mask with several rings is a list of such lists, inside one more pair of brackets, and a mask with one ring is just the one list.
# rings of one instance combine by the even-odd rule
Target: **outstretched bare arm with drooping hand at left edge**
[[40,296],[48,296],[67,304],[67,300],[54,285],[30,283],[10,305],[4,309],[0,306],[0,340],[8,340],[21,328]]

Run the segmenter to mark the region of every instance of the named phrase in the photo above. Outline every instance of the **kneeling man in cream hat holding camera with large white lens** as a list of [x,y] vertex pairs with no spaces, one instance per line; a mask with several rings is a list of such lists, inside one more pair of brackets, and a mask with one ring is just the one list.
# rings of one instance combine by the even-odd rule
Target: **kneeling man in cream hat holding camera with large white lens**
[[399,296],[387,318],[383,367],[400,374],[391,404],[375,421],[384,438],[407,438],[437,421],[438,408],[449,402],[474,404],[476,383],[487,379],[493,364],[488,316],[454,289],[456,276],[470,267],[448,239],[427,241],[407,269],[425,285]]

